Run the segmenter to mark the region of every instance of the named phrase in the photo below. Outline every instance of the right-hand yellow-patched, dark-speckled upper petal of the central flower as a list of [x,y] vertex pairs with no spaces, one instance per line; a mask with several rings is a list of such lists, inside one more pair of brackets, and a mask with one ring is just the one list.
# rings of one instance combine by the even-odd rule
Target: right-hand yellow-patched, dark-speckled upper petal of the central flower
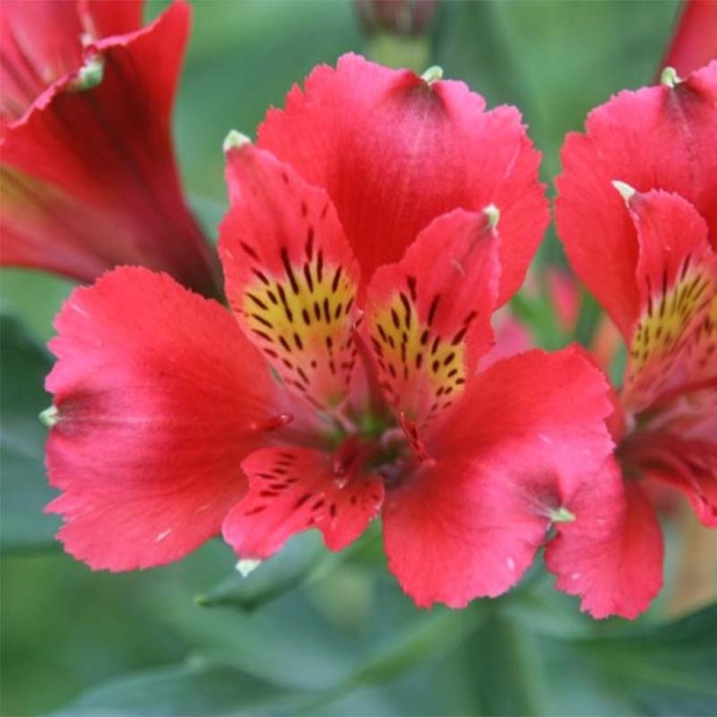
[[460,397],[490,349],[499,275],[488,214],[463,209],[435,219],[400,262],[374,274],[365,326],[381,389],[417,427]]

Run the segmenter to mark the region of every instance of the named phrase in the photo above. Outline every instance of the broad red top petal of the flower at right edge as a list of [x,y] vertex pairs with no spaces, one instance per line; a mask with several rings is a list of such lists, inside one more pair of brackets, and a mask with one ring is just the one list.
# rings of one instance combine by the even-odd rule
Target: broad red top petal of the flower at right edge
[[675,87],[620,92],[585,126],[561,151],[557,229],[574,271],[627,339],[640,302],[637,238],[611,183],[680,194],[717,247],[717,61]]

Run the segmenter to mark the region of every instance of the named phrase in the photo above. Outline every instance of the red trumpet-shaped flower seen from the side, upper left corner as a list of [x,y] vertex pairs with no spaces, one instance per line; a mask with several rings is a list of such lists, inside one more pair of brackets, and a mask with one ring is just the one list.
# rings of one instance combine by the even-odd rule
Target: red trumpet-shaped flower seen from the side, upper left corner
[[170,115],[189,6],[141,27],[138,0],[7,0],[0,12],[3,265],[92,281],[163,270],[216,295]]

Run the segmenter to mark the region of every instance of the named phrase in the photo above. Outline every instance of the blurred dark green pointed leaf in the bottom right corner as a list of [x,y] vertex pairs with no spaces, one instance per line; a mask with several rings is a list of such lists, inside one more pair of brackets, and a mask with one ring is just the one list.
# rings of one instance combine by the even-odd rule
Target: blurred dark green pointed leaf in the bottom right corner
[[642,714],[717,713],[717,604],[666,625],[626,625],[572,645]]

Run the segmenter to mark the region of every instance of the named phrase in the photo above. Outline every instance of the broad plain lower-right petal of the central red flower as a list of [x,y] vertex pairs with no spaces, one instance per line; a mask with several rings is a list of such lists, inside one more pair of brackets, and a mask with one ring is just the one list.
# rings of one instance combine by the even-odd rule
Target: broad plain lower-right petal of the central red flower
[[580,351],[531,351],[476,377],[384,505],[389,569],[419,606],[516,584],[612,450],[607,383]]

